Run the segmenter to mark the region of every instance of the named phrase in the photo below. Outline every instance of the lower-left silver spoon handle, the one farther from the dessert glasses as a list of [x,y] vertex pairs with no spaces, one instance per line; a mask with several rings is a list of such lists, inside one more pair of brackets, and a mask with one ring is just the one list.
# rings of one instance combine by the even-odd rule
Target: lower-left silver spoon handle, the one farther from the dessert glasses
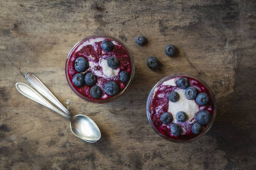
[[21,82],[17,82],[16,83],[16,89],[23,94],[24,96],[30,98],[31,100],[40,103],[54,111],[56,111],[58,114],[60,114],[61,116],[67,118],[68,120],[70,120],[70,116],[66,115],[65,113],[63,113],[62,111],[60,111],[59,109],[57,109],[56,107],[54,107],[52,104],[50,104],[48,101],[45,100],[44,97],[42,97],[39,93],[37,93],[34,89],[32,89],[31,87],[29,87],[27,84],[21,83]]

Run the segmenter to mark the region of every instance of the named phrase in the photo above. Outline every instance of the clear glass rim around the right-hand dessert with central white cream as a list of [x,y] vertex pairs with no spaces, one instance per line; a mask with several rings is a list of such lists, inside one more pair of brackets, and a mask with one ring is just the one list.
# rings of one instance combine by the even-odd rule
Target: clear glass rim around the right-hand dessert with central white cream
[[[193,138],[190,138],[190,139],[187,139],[187,140],[177,140],[177,139],[173,139],[173,138],[169,138],[165,135],[163,135],[162,133],[160,133],[155,125],[153,124],[152,120],[151,120],[151,117],[150,117],[150,111],[149,111],[149,104],[150,104],[150,99],[151,99],[151,96],[153,94],[153,92],[155,91],[155,89],[159,86],[159,84],[161,84],[162,82],[166,81],[166,80],[169,80],[170,78],[174,78],[174,77],[180,77],[180,76],[184,76],[184,77],[189,77],[189,78],[193,78],[197,81],[199,81],[201,84],[203,84],[204,87],[206,87],[206,89],[208,90],[208,92],[210,93],[211,97],[212,97],[212,103],[213,103],[213,115],[212,115],[212,119],[211,119],[211,122],[208,123],[206,129],[204,129],[204,131],[202,133],[200,133],[199,135],[197,135],[196,137],[193,137]],[[194,141],[195,139],[199,138],[200,136],[206,134],[210,129],[211,129],[211,126],[213,125],[214,121],[215,121],[215,118],[216,118],[216,100],[215,100],[215,96],[211,90],[211,88],[207,85],[206,82],[204,82],[203,80],[195,77],[195,76],[192,76],[192,75],[189,75],[189,74],[185,74],[185,73],[177,73],[177,74],[171,74],[169,76],[165,76],[164,78],[162,78],[161,80],[159,80],[155,86],[150,90],[149,92],[149,95],[148,95],[148,98],[147,98],[147,104],[146,104],[146,111],[147,111],[147,118],[148,118],[148,121],[152,127],[152,129],[159,135],[161,136],[162,138],[166,139],[166,140],[169,140],[169,141],[172,141],[173,143],[190,143],[191,141]]]

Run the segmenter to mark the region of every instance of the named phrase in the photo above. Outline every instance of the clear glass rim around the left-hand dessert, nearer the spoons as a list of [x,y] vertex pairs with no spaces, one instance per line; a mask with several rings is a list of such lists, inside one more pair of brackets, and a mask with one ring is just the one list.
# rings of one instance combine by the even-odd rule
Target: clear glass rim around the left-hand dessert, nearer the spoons
[[[85,97],[84,95],[79,93],[77,90],[75,90],[75,88],[73,88],[73,86],[71,84],[71,80],[69,79],[69,75],[68,75],[68,63],[69,63],[70,56],[71,56],[72,52],[74,51],[74,49],[76,47],[78,47],[78,45],[80,45],[80,43],[82,43],[85,39],[96,38],[96,37],[103,37],[103,38],[112,39],[114,41],[117,41],[119,44],[121,44],[124,47],[124,49],[127,51],[127,53],[129,54],[129,57],[131,59],[131,65],[132,65],[132,71],[131,71],[130,79],[127,82],[125,88],[121,92],[119,92],[117,95],[114,95],[114,96],[112,96],[112,97],[110,97],[106,100],[93,100],[92,98]],[[65,63],[65,75],[66,75],[66,79],[68,81],[68,85],[72,89],[72,91],[76,95],[78,95],[80,98],[82,98],[83,100],[85,100],[87,102],[91,102],[91,103],[98,103],[98,104],[104,104],[104,103],[112,102],[112,101],[116,100],[119,96],[121,96],[124,92],[126,92],[131,86],[132,80],[134,78],[134,72],[135,72],[135,64],[134,64],[134,59],[133,59],[133,56],[132,56],[130,50],[119,39],[114,38],[114,37],[109,36],[109,35],[104,35],[104,34],[95,34],[95,35],[86,36],[83,39],[81,39],[80,41],[78,41],[78,43],[76,43],[71,48],[71,50],[69,51],[67,59],[66,59],[66,63]]]

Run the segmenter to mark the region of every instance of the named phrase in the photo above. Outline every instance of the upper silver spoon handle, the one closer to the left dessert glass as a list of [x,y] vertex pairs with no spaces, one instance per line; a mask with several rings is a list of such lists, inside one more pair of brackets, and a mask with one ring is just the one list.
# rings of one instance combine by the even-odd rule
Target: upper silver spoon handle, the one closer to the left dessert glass
[[55,95],[52,92],[50,92],[50,90],[39,78],[37,78],[32,73],[26,73],[25,78],[31,84],[32,87],[34,87],[37,91],[43,94],[46,98],[48,98],[49,101],[53,102],[57,107],[59,107],[63,112],[65,112],[65,114],[72,116],[69,110],[66,109],[66,107],[59,102]]

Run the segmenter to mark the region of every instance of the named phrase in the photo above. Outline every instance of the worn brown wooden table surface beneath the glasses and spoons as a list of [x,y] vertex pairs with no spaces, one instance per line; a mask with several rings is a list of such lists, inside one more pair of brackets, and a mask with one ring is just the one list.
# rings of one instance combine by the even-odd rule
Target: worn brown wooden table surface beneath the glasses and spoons
[[[0,169],[256,169],[255,1],[0,1]],[[91,104],[76,96],[65,61],[85,36],[107,34],[131,50],[135,77],[117,101]],[[140,47],[135,37],[149,43]],[[164,54],[174,44],[175,58]],[[156,56],[161,70],[146,59]],[[37,75],[73,114],[98,124],[86,143],[52,110],[21,95],[16,82]],[[146,100],[164,76],[206,81],[217,101],[211,130],[189,144],[158,136]],[[27,83],[28,84],[28,83]]]

